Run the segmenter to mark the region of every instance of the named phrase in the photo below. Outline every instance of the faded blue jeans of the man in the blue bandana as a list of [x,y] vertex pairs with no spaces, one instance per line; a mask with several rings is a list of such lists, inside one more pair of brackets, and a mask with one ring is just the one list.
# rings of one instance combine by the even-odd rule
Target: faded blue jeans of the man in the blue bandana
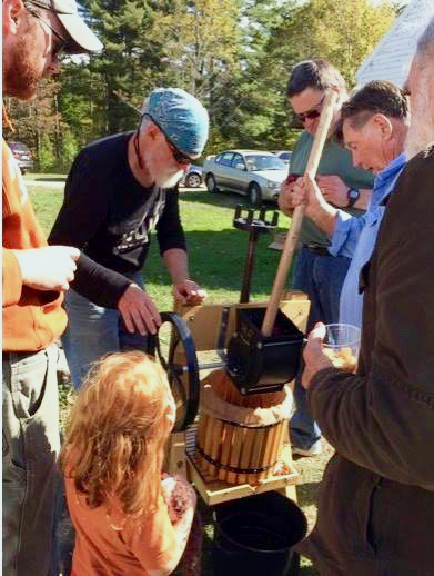
[[[139,286],[143,285],[141,272],[131,279]],[[64,307],[69,322],[62,345],[75,390],[80,389],[91,365],[104,355],[147,349],[147,337],[139,332],[130,334],[118,309],[97,306],[72,289],[65,295]]]

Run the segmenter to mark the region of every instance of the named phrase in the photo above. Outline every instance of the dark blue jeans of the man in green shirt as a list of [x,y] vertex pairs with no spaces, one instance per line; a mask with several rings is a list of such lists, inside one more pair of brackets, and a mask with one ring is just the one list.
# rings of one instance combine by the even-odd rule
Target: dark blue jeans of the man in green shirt
[[[306,247],[300,250],[295,262],[293,288],[307,294],[311,300],[307,332],[319,321],[339,321],[341,289],[351,259],[345,256],[322,256]],[[293,446],[309,449],[321,438],[321,430],[309,411],[306,391],[301,385],[302,373],[303,366],[295,378],[295,411],[290,421],[290,438]]]

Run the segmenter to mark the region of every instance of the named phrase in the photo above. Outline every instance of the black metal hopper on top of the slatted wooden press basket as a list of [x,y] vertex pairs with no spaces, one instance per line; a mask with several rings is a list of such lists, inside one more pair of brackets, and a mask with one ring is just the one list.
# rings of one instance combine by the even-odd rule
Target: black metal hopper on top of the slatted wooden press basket
[[273,334],[261,334],[265,308],[238,308],[236,332],[228,346],[228,373],[241,394],[272,393],[300,366],[304,335],[281,310]]

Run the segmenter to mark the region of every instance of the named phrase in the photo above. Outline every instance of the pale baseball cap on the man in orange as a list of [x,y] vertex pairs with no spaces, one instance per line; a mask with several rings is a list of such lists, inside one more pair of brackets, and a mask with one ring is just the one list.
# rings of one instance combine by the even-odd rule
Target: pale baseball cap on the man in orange
[[103,49],[102,43],[79,14],[75,0],[27,0],[26,3],[55,13],[72,39],[71,44],[65,48],[65,52],[78,54],[99,52]]

